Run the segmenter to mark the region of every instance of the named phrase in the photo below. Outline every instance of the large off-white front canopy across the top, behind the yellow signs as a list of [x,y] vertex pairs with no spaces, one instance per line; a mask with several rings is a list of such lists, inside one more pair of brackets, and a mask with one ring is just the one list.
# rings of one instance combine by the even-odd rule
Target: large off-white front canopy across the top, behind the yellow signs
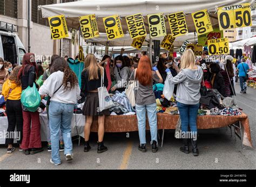
[[[122,20],[122,28],[124,33],[128,31],[125,16],[134,15],[136,13],[142,13],[143,16],[150,15],[152,13],[175,13],[184,11],[186,16],[186,23],[189,32],[194,32],[195,27],[191,17],[191,13],[208,9],[211,12],[211,22],[213,27],[218,27],[217,13],[215,13],[215,6],[228,6],[241,3],[251,3],[254,5],[255,0],[119,0],[119,1],[102,1],[102,0],[84,0],[71,3],[60,3],[51,5],[42,5],[38,8],[42,11],[42,17],[48,18],[57,15],[64,15],[67,20],[66,23],[69,27],[79,28],[78,17],[95,14],[98,18],[97,24],[99,32],[105,32],[103,24],[103,17],[111,15],[119,15]],[[168,26],[168,19],[165,19],[167,33],[171,33]],[[144,23],[146,30],[149,33],[149,27],[147,18],[145,17]]]

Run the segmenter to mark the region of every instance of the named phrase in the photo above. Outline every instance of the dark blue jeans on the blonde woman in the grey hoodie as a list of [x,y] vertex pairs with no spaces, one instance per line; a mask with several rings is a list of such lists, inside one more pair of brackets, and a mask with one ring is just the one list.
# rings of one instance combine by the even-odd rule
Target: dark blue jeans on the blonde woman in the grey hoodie
[[188,125],[190,131],[197,133],[197,113],[199,109],[199,103],[195,105],[187,105],[177,102],[180,119],[181,119],[181,131],[187,132]]

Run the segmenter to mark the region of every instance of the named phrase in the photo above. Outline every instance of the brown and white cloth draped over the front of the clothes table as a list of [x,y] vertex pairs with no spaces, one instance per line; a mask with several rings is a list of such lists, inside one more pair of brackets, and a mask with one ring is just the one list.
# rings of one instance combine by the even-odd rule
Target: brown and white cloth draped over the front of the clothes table
[[[157,126],[158,130],[175,129],[178,121],[178,115],[171,115],[167,113],[157,113]],[[8,127],[7,117],[0,117],[0,133],[6,132]],[[48,119],[46,114],[40,114],[41,121],[41,140],[47,139],[47,126]],[[251,131],[248,116],[242,113],[240,116],[198,116],[197,127],[198,129],[210,129],[227,127],[229,125],[239,122],[241,124],[241,140],[245,146],[252,147]],[[85,116],[82,114],[73,114],[71,122],[72,136],[84,136]],[[149,130],[149,124],[146,122],[146,129]],[[237,129],[237,126],[235,126]],[[105,117],[105,132],[133,132],[138,131],[137,117],[131,116],[106,116]],[[93,120],[91,132],[98,132],[97,118]],[[163,140],[163,139],[162,139]],[[0,144],[5,142],[4,138],[0,138]]]

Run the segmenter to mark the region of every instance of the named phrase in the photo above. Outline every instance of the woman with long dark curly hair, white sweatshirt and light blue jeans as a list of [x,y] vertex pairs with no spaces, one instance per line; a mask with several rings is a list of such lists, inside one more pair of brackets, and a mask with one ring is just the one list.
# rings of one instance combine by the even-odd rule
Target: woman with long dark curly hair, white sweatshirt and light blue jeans
[[59,130],[64,140],[64,155],[67,161],[73,159],[71,140],[71,119],[73,116],[74,104],[77,103],[80,95],[80,88],[76,74],[70,69],[64,58],[55,60],[50,69],[51,75],[39,89],[39,94],[44,97],[49,95],[49,119],[51,131],[51,160],[50,162],[59,165]]

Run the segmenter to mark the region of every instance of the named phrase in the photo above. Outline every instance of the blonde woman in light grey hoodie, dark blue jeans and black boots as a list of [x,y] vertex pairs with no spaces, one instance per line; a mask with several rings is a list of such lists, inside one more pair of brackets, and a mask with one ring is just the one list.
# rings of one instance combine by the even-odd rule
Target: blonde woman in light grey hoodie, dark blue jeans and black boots
[[[187,49],[181,56],[180,72],[173,77],[169,68],[166,69],[167,80],[169,84],[178,84],[177,88],[177,105],[181,119],[182,135],[186,134],[183,139],[184,146],[180,151],[190,153],[189,139],[191,138],[192,153],[198,156],[197,148],[197,112],[199,109],[200,83],[203,77],[203,70],[196,65],[196,57],[191,49]],[[188,132],[188,126],[191,133]],[[191,136],[193,135],[193,136]]]

